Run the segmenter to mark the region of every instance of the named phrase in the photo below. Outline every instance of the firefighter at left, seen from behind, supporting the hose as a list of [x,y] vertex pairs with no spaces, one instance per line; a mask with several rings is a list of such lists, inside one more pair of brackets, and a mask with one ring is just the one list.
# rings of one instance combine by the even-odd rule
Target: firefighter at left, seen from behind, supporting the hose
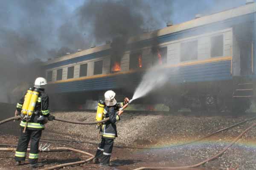
[[29,163],[31,164],[31,167],[36,168],[44,166],[43,164],[38,163],[39,140],[41,138],[42,130],[44,130],[44,124],[46,124],[48,120],[52,121],[54,119],[54,116],[50,115],[48,110],[49,98],[44,92],[46,85],[47,81],[43,77],[35,79],[34,88],[38,89],[38,99],[29,120],[25,119],[21,113],[25,96],[23,96],[20,99],[20,102],[17,103],[15,116],[21,115],[22,120],[20,122],[20,138],[15,152],[16,166],[19,166],[21,161],[25,161],[26,151],[30,140]]

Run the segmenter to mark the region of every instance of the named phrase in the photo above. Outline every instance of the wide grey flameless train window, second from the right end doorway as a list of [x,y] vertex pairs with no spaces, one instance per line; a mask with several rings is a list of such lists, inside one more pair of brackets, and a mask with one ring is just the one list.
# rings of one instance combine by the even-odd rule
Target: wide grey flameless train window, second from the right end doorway
[[182,42],[180,45],[180,61],[198,59],[198,40]]

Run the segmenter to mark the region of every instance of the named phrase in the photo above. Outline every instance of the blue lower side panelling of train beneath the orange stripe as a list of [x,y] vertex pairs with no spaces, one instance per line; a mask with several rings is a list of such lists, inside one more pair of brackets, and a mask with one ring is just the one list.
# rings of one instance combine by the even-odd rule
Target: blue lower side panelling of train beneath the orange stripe
[[[173,84],[182,82],[206,82],[220,81],[232,79],[230,74],[230,60],[211,62],[206,64],[189,65],[179,68],[169,69],[169,82]],[[141,74],[141,73],[140,73]],[[138,73],[120,74],[111,77],[101,77],[96,79],[86,79],[73,82],[62,82],[52,84],[55,87],[55,92],[79,92],[79,91],[98,91],[115,88],[124,88],[122,86],[126,81],[136,86],[140,82]],[[121,82],[121,83],[120,83]]]

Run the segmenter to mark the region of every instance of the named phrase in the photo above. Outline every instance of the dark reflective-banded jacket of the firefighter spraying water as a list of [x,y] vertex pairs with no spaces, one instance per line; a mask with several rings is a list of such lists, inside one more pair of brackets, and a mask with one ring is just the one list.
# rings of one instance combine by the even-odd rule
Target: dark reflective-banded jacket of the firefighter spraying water
[[119,108],[123,107],[124,103],[116,103],[114,106],[105,106],[104,119],[109,117],[109,120],[102,125],[102,137],[106,139],[115,139],[117,137],[116,122],[120,120],[118,116]]

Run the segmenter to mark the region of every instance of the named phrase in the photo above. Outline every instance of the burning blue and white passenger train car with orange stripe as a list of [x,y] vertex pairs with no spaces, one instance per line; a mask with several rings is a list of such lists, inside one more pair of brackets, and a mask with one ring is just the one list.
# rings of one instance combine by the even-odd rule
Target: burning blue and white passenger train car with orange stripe
[[110,42],[51,59],[44,67],[53,105],[78,107],[108,89],[131,97],[147,68],[159,65],[169,71],[168,83],[137,102],[244,112],[256,78],[255,20],[256,3],[248,3],[130,37],[117,61]]

